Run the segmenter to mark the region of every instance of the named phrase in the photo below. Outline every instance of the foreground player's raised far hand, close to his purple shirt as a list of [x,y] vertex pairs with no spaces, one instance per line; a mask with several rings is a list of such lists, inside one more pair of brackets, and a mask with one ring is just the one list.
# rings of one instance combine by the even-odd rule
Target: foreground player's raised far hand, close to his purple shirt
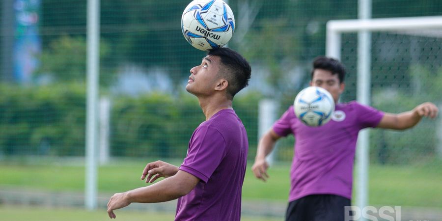
[[177,166],[167,164],[163,161],[155,161],[152,163],[148,163],[146,167],[144,167],[143,174],[141,175],[141,180],[143,180],[147,176],[146,183],[153,183],[160,177],[167,178],[175,175],[177,172]]

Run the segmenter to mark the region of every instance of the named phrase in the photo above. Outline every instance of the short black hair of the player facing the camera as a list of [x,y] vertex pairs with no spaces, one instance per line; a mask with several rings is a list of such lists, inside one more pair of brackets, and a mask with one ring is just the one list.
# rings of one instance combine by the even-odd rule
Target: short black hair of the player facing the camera
[[327,71],[331,71],[332,75],[338,75],[339,83],[344,82],[345,78],[345,66],[338,60],[327,57],[327,56],[318,56],[313,60],[313,69],[311,70],[311,79],[313,79],[313,73],[316,69],[324,69]]

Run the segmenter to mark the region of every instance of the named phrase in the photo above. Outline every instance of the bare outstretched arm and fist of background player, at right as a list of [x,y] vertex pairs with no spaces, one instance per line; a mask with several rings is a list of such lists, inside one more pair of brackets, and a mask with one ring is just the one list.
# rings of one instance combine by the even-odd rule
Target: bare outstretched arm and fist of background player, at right
[[385,113],[378,128],[405,130],[414,127],[422,117],[435,118],[438,115],[438,108],[431,102],[416,106],[411,111],[402,113]]

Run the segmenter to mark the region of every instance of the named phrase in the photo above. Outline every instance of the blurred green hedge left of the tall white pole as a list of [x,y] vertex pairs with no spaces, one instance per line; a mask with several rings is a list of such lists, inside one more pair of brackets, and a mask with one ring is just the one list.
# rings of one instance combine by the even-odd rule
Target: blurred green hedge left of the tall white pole
[[[0,151],[5,154],[83,154],[83,84],[0,86]],[[80,148],[79,148],[80,147]]]

